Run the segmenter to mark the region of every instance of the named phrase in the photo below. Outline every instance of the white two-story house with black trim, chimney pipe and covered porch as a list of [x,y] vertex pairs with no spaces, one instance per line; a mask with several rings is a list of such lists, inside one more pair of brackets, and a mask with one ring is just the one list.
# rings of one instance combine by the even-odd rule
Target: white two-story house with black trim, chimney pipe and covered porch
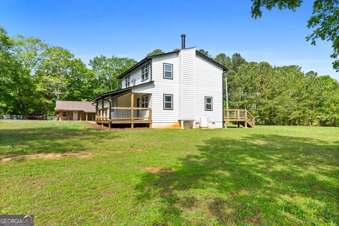
[[225,66],[185,48],[157,54],[122,73],[121,90],[93,99],[96,122],[153,128],[222,128]]

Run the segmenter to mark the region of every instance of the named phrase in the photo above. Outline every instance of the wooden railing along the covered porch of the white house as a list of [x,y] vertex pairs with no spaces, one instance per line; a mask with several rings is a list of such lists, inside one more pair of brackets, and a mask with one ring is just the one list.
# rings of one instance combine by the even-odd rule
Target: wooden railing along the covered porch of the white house
[[97,109],[97,120],[100,121],[140,121],[152,120],[152,109],[147,107],[109,107]]

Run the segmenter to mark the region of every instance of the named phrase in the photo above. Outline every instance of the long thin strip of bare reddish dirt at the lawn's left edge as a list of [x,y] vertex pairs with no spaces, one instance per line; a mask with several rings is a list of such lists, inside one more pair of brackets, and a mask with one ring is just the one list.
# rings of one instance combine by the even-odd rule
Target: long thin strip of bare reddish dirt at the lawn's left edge
[[76,156],[79,158],[89,158],[93,157],[93,153],[39,153],[39,154],[29,154],[29,155],[12,155],[6,156],[1,159],[1,162],[10,162],[11,160],[20,160],[20,159],[48,159],[55,160],[61,157]]

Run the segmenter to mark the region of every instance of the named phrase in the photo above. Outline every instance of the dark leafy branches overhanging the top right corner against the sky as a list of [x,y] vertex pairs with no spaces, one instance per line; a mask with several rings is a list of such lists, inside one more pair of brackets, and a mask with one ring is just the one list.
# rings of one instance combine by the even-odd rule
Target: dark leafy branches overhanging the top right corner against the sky
[[[251,15],[254,18],[262,16],[261,8],[272,8],[278,6],[280,10],[288,8],[295,11],[302,5],[302,0],[251,0]],[[339,71],[339,1],[338,0],[315,0],[313,13],[307,21],[307,28],[314,28],[307,40],[316,44],[317,39],[332,42],[333,69]]]

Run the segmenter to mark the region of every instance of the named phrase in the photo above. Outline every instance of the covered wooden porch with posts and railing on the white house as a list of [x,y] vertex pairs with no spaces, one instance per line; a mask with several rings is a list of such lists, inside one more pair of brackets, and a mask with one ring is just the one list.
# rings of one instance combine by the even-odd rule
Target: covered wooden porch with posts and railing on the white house
[[131,128],[134,128],[135,124],[150,126],[150,97],[149,93],[133,93],[131,90],[102,96],[95,100],[95,122],[109,128],[119,124],[128,124]]

